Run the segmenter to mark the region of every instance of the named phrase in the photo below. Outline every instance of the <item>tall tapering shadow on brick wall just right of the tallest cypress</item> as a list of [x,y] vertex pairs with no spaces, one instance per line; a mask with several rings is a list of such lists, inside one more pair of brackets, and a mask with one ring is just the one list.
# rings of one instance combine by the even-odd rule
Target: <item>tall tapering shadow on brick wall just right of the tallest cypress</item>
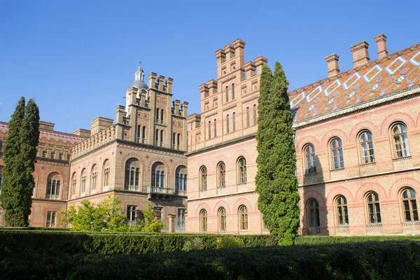
[[[315,167],[306,166],[303,176],[302,235],[329,235],[323,168],[318,156],[314,157]],[[304,158],[305,164],[308,160]]]

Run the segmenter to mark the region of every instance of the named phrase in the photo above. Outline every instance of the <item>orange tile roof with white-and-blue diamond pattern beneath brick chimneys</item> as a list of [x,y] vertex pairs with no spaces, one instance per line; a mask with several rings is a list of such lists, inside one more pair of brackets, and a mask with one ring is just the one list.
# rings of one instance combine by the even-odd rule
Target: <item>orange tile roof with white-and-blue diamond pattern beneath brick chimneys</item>
[[290,91],[295,123],[420,85],[420,44]]

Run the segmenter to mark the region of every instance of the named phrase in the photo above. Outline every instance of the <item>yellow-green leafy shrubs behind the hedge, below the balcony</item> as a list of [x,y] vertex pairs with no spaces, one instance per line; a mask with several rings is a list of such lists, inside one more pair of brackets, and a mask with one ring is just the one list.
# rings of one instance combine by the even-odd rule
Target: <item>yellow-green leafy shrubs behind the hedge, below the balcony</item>
[[60,211],[60,221],[71,224],[71,230],[78,232],[160,232],[165,228],[162,221],[156,221],[149,204],[143,210],[145,221],[139,225],[129,225],[123,214],[123,207],[118,197],[111,197],[96,206],[89,200],[80,202],[81,206],[71,205],[68,210]]

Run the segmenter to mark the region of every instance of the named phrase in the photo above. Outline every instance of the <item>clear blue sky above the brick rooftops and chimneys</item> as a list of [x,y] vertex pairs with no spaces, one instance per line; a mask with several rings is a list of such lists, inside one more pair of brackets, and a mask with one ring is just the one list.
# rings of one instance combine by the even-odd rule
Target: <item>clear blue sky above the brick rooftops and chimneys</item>
[[[346,2],[346,4],[339,4]],[[411,3],[410,3],[411,2]],[[245,58],[279,60],[290,90],[327,76],[324,57],[352,67],[350,45],[388,36],[395,52],[420,42],[420,1],[0,0],[0,120],[34,97],[41,119],[67,132],[115,119],[138,61],[174,78],[174,98],[200,113],[198,86],[216,78],[214,52],[236,38]]]

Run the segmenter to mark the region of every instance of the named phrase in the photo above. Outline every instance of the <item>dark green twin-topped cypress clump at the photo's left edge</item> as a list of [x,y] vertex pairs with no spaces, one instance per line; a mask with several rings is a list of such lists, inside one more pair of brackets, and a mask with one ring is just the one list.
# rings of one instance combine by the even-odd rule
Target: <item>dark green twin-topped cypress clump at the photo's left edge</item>
[[34,189],[34,162],[39,141],[39,110],[34,100],[22,97],[10,118],[4,144],[3,186],[0,203],[7,226],[27,227]]

